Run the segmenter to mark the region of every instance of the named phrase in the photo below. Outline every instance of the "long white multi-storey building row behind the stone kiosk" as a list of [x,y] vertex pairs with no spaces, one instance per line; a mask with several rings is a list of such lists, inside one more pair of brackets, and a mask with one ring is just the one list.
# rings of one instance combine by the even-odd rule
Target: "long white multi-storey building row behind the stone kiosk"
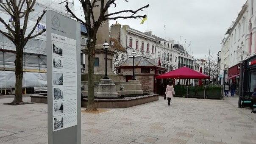
[[[193,69],[193,57],[184,50],[182,45],[177,44],[178,42],[174,40],[167,41],[155,36],[152,31],[144,33],[130,28],[128,25],[122,26],[116,23],[111,25],[110,37],[126,48],[126,52],[119,56],[122,60],[126,59],[135,50],[137,55],[156,59],[167,71],[181,66],[188,66]],[[123,57],[124,55],[126,55],[126,58]]]

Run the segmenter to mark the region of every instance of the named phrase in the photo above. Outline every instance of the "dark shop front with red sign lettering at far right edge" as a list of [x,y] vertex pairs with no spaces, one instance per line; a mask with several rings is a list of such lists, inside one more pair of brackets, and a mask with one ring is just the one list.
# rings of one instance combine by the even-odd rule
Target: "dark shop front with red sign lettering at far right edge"
[[256,88],[256,55],[245,60],[244,96],[250,96]]

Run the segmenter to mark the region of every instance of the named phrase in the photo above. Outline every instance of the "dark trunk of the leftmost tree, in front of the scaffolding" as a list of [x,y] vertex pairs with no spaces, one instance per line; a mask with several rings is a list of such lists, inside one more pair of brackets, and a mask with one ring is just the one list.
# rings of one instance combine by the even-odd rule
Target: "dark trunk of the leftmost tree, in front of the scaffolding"
[[[18,42],[19,43],[19,42]],[[23,46],[22,44],[16,45],[15,55],[15,97],[11,102],[13,105],[20,105],[22,101],[22,79],[23,79]]]

